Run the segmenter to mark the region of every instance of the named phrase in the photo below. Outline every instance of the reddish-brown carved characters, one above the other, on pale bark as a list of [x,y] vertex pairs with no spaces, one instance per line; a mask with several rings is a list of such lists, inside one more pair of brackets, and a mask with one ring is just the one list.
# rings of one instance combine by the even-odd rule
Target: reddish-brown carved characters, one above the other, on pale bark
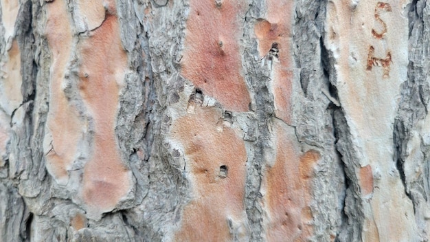
[[[372,35],[375,39],[383,39],[385,34],[387,33],[387,24],[381,20],[378,12],[380,11],[392,12],[391,5],[389,3],[378,2],[375,7],[375,19],[378,23],[381,23],[383,30],[381,33],[376,32],[376,30],[372,29]],[[370,45],[369,54],[367,54],[367,70],[372,70],[372,66],[376,65],[378,67],[383,67],[384,74],[383,78],[389,77],[389,65],[392,62],[391,53],[387,52],[387,56],[385,59],[374,57],[375,48]]]

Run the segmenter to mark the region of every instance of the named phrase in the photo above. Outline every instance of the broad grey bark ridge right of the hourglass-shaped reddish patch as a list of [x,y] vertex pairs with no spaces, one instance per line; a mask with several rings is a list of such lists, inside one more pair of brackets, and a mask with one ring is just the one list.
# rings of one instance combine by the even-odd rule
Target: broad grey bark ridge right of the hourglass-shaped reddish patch
[[[127,216],[127,227],[135,230],[135,238],[143,238],[144,241],[171,238],[171,228],[173,223],[179,221],[181,205],[189,192],[188,186],[184,185],[183,167],[178,168],[172,159],[170,143],[166,142],[172,123],[168,110],[169,97],[171,93],[183,89],[184,85],[175,61],[181,51],[177,45],[183,43],[185,14],[188,13],[185,10],[187,6],[182,2],[172,2],[172,5],[172,8],[155,8],[148,1],[134,5],[142,28],[142,32],[137,31],[137,45],[142,48],[139,51],[143,54],[143,65],[133,65],[136,65],[142,80],[144,97],[142,112],[137,117],[140,119],[139,125],[142,125],[141,129],[137,129],[142,132],[142,140],[133,146],[137,152],[143,153],[143,157],[139,157],[143,160],[135,164],[133,173],[139,175],[140,180],[145,180],[144,184],[137,186],[146,186],[144,189],[147,192],[142,197],[142,204],[127,210],[130,214]],[[127,139],[126,136],[122,138]],[[131,155],[137,158],[137,154]],[[142,213],[142,208],[148,212]]]

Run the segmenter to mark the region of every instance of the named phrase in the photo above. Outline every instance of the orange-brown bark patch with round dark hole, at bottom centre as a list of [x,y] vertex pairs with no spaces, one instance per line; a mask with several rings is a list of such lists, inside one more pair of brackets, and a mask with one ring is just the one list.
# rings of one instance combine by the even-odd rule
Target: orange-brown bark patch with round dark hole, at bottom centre
[[198,106],[173,124],[172,136],[190,161],[194,192],[175,241],[229,241],[227,219],[243,218],[245,144],[233,129],[216,129],[221,115],[218,109]]

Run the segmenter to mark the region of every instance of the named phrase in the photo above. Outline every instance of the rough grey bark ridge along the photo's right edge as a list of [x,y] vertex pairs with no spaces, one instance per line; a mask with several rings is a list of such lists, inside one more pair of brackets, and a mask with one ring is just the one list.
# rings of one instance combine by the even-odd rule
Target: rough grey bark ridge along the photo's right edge
[[[420,124],[427,120],[427,104],[429,102],[430,88],[428,83],[429,61],[428,56],[429,43],[425,41],[430,34],[429,20],[430,16],[427,11],[427,2],[414,0],[407,8],[409,21],[409,64],[407,65],[407,80],[401,85],[401,98],[398,107],[398,115],[394,120],[393,129],[393,146],[394,161],[400,175],[400,179],[405,188],[405,195],[409,197],[414,205],[414,214],[419,233],[422,238],[428,238],[425,224],[426,218],[423,217],[422,210],[426,205],[429,194],[428,184],[428,157],[429,149],[423,141],[423,137],[428,131],[423,129]],[[428,122],[428,121],[427,121]],[[416,144],[414,140],[421,140]],[[419,147],[416,147],[419,146]],[[418,158],[412,151],[418,148],[422,156]],[[414,156],[411,159],[410,156]],[[422,166],[424,175],[411,176],[412,166]]]

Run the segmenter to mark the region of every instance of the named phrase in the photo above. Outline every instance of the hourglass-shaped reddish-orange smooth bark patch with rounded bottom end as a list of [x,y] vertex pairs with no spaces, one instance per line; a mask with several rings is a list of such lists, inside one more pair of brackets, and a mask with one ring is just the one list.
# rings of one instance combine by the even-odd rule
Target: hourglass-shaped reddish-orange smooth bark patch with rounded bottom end
[[115,135],[120,85],[127,65],[117,17],[108,15],[80,47],[80,94],[94,125],[93,153],[84,167],[82,196],[93,211],[106,212],[131,187]]

